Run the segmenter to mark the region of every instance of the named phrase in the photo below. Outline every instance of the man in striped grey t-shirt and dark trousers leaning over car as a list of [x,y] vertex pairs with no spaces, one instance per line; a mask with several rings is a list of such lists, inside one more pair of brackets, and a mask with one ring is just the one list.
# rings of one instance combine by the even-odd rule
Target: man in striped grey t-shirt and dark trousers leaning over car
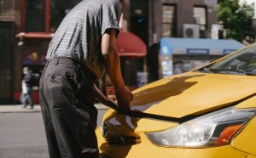
[[[119,110],[130,110],[116,52],[120,0],[84,0],[62,20],[49,43],[40,80],[40,104],[51,158],[97,157],[95,87],[104,70],[116,91]],[[107,102],[105,102],[107,103]]]

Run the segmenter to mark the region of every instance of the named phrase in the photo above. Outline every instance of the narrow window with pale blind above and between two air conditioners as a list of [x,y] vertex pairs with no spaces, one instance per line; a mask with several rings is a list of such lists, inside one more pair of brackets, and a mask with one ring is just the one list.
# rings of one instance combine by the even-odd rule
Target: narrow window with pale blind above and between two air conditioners
[[200,26],[200,37],[207,37],[207,9],[205,7],[194,7],[195,24]]

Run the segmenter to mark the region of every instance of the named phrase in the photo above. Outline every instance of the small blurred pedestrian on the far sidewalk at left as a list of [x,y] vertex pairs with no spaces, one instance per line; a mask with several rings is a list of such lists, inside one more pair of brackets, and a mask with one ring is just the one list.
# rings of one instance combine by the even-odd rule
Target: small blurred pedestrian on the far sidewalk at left
[[29,70],[28,67],[23,68],[23,80],[22,84],[22,93],[21,93],[21,103],[22,108],[26,109],[26,103],[30,105],[30,109],[34,108],[33,100],[32,100],[32,85],[33,85],[33,76],[32,71]]

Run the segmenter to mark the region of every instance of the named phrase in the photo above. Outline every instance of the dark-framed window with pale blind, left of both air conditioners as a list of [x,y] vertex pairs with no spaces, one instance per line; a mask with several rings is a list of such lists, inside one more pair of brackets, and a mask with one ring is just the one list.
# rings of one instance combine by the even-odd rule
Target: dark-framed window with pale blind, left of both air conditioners
[[164,4],[162,7],[162,37],[176,37],[176,7]]

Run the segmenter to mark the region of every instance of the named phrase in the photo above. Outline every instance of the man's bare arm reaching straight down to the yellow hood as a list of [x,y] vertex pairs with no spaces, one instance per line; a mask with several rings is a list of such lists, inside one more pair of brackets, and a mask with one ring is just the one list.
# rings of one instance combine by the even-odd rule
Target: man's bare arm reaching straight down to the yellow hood
[[105,69],[115,89],[120,110],[130,110],[132,93],[125,88],[121,75],[119,54],[116,51],[115,29],[108,29],[102,35],[102,54],[105,59]]

